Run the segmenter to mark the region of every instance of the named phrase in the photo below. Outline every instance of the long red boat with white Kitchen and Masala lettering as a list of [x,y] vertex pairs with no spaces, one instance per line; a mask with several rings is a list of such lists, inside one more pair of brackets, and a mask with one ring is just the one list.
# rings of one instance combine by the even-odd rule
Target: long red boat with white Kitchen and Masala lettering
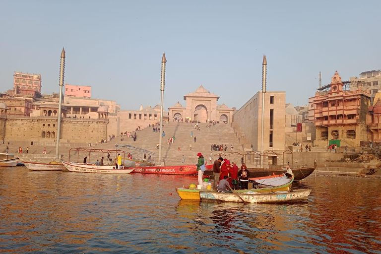
[[[161,175],[195,175],[197,167],[194,164],[181,166],[150,166],[150,167],[130,167],[131,173],[161,174]],[[213,169],[213,164],[206,165],[206,169]]]

